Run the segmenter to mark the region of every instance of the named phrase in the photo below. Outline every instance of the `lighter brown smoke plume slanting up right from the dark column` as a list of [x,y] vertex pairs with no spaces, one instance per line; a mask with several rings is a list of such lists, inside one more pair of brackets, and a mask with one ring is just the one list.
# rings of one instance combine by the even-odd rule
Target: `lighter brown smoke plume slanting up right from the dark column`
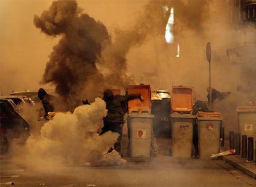
[[[113,87],[126,88],[134,84],[127,76],[127,54],[130,49],[145,44],[152,36],[163,35],[169,17],[163,7],[167,1],[150,1],[143,7],[136,22],[130,25],[129,30],[116,28],[114,42],[103,51],[103,57],[98,62],[99,68],[105,72],[106,84]],[[138,54],[141,55],[141,54]],[[139,62],[143,63],[143,62]],[[138,68],[140,64],[137,64]],[[137,82],[138,83],[138,82]]]

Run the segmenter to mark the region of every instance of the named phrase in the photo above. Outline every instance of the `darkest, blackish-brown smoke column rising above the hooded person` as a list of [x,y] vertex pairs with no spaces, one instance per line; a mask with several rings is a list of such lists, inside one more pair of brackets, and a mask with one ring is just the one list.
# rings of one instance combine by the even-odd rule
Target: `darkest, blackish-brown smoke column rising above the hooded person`
[[49,56],[41,84],[56,86],[56,92],[71,109],[77,106],[85,90],[96,95],[103,76],[95,62],[101,55],[103,42],[109,40],[106,26],[80,14],[76,1],[53,1],[49,10],[40,17],[35,15],[34,23],[49,36],[61,36]]

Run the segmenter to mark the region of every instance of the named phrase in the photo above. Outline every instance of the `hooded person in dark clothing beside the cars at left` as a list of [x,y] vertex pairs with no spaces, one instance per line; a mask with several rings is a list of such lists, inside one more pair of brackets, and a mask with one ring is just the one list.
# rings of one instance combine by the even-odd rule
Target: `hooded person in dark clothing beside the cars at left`
[[56,98],[53,95],[47,94],[45,89],[42,88],[38,90],[38,98],[40,98],[43,104],[43,108],[45,109],[45,115],[43,117],[46,118],[48,112],[54,111],[54,103]]

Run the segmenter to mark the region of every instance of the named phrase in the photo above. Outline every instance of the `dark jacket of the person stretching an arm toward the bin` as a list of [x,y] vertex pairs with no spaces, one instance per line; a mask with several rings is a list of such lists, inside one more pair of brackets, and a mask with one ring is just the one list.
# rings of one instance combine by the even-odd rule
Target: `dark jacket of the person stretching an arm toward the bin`
[[140,98],[140,94],[113,95],[111,90],[106,90],[104,98],[108,114],[104,117],[104,123],[124,122],[124,114],[127,112],[127,102]]

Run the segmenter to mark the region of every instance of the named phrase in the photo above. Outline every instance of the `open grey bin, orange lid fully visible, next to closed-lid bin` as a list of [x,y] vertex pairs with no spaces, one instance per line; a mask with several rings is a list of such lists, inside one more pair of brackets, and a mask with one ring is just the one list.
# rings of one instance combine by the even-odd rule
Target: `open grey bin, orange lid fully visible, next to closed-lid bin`
[[173,86],[171,92],[171,132],[173,157],[191,157],[193,87]]

